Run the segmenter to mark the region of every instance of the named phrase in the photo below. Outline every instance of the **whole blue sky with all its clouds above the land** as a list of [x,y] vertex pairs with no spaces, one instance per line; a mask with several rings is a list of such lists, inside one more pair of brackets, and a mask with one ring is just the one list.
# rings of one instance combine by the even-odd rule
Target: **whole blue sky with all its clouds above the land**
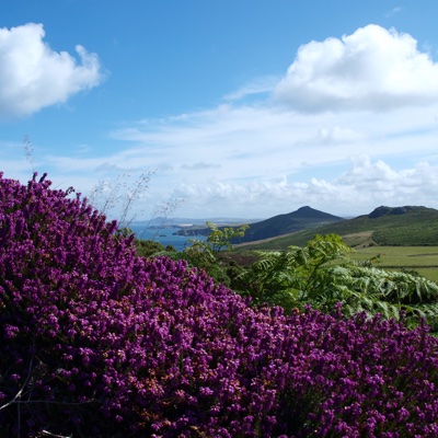
[[115,218],[129,197],[136,219],[438,208],[437,16],[435,0],[2,0],[0,170],[99,208],[117,185]]

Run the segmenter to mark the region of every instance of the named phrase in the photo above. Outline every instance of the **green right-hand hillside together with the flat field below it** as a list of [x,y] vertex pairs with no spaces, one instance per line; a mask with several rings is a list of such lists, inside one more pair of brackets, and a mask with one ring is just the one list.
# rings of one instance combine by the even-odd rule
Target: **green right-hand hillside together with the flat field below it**
[[348,254],[353,260],[380,255],[377,267],[416,270],[438,283],[438,211],[425,207],[403,215],[360,216],[237,246],[241,251],[287,251],[290,245],[304,246],[316,233],[341,235],[356,251]]

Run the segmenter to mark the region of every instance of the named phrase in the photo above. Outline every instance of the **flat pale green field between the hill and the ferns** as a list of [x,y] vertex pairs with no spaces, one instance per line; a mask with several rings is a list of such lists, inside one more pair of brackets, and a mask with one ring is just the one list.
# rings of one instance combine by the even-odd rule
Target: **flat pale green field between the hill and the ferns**
[[426,278],[438,281],[438,246],[365,246],[350,257],[365,261],[380,254],[377,267],[383,269],[414,269]]

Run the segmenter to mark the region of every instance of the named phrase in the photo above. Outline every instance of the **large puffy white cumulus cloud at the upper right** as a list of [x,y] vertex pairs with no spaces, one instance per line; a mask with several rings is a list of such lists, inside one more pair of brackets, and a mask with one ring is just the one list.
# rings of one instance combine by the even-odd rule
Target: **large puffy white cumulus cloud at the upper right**
[[378,25],[300,47],[273,92],[297,111],[388,111],[438,102],[438,65],[408,34]]

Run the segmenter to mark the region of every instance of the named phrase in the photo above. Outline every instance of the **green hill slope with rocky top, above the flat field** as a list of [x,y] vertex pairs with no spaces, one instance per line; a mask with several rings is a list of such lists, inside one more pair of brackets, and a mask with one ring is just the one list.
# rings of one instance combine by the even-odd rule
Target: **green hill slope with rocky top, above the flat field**
[[308,228],[275,239],[239,245],[251,250],[303,246],[314,234],[336,233],[354,247],[438,245],[438,210],[427,207],[378,207],[355,219]]

